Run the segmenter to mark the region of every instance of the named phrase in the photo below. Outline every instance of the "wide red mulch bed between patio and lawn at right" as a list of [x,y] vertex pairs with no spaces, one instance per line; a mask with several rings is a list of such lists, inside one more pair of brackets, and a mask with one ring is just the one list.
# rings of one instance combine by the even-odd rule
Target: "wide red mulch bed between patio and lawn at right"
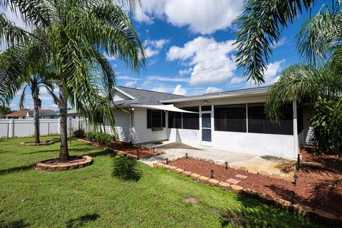
[[[309,156],[309,155],[308,155]],[[304,156],[306,157],[306,155]],[[226,181],[229,178],[240,180],[238,185],[258,192],[263,192],[274,197],[291,201],[289,191],[295,192],[294,202],[304,204],[313,209],[323,209],[342,216],[342,175],[341,172],[332,172],[322,167],[312,167],[301,164],[297,171],[298,179],[296,186],[289,181],[279,180],[262,175],[254,175],[234,169],[226,170],[222,165],[214,165],[209,162],[182,158],[170,165],[180,167],[182,170],[196,172],[199,175],[210,177],[210,170],[214,170],[214,178]],[[242,180],[235,175],[246,175]]]

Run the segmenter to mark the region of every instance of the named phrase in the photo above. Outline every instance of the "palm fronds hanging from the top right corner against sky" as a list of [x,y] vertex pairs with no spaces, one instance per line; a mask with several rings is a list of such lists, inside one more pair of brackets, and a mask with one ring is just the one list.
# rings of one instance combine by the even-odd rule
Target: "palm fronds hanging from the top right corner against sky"
[[[266,64],[281,31],[314,4],[315,0],[246,1],[244,11],[237,19],[240,29],[236,57],[238,66],[245,68],[244,75],[248,76],[248,80],[264,83]],[[319,11],[314,18],[309,18],[298,36],[299,53],[309,63],[327,57],[327,53],[341,45],[341,1],[334,0],[331,9],[323,4],[322,9],[326,12]]]

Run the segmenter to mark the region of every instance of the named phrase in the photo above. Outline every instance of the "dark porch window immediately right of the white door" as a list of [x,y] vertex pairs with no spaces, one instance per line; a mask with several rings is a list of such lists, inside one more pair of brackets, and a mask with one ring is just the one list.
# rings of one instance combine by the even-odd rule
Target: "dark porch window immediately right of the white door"
[[217,105],[214,106],[215,130],[247,132],[246,105]]

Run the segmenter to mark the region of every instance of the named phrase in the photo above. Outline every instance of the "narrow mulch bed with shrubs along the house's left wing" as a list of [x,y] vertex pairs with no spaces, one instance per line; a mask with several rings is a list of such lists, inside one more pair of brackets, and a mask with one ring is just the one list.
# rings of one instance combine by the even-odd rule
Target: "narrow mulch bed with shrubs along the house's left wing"
[[135,147],[134,145],[128,142],[112,141],[113,146],[107,147],[106,145],[103,145],[98,142],[92,142],[86,138],[79,139],[79,140],[82,140],[83,142],[88,142],[95,147],[102,147],[103,149],[107,149],[107,150],[118,150],[117,153],[119,155],[125,155],[133,159],[142,159],[145,157],[152,157],[155,155],[160,155],[160,152],[157,150],[154,151],[154,150],[149,150],[144,147]]

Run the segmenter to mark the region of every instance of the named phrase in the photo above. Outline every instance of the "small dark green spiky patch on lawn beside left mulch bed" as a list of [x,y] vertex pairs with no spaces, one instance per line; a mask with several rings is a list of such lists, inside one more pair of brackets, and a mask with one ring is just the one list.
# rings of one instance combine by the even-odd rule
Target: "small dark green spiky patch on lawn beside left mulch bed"
[[123,156],[115,156],[113,166],[113,177],[118,177],[121,180],[140,180],[142,174],[141,170],[137,167],[136,160]]

